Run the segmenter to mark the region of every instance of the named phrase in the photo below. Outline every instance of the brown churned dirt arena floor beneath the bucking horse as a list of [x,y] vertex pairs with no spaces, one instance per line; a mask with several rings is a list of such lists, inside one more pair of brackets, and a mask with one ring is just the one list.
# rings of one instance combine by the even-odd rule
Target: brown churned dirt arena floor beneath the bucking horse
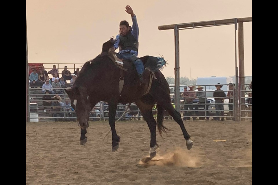
[[[194,142],[186,149],[182,131],[157,133],[157,156],[149,156],[145,121],[116,123],[120,148],[111,151],[108,122],[90,122],[88,142],[80,145],[76,122],[26,123],[26,184],[252,184],[252,122],[184,121]],[[226,140],[226,141],[214,141]]]

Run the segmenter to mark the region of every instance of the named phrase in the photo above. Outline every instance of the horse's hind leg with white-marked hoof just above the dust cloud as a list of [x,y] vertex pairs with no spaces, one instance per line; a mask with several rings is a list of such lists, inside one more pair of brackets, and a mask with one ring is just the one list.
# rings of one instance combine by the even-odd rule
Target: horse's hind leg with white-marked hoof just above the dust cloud
[[155,102],[147,104],[143,101],[136,101],[135,102],[138,108],[141,111],[142,116],[144,117],[145,121],[148,124],[148,127],[151,132],[151,142],[150,142],[150,158],[156,156],[156,149],[158,145],[156,144],[156,120],[153,117],[152,108]]

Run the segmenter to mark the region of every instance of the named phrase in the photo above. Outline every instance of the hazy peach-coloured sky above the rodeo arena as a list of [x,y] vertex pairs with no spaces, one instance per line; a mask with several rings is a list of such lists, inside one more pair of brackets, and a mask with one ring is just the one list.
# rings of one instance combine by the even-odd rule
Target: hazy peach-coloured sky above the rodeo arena
[[[158,26],[252,17],[251,0],[26,0],[29,63],[84,64],[95,58],[103,42],[118,34],[121,20],[132,25],[126,5],[137,16],[138,56],[163,55],[169,63],[165,77],[174,77],[174,30]],[[244,23],[244,63],[251,76],[252,22]],[[234,75],[234,25],[180,30],[180,77]]]

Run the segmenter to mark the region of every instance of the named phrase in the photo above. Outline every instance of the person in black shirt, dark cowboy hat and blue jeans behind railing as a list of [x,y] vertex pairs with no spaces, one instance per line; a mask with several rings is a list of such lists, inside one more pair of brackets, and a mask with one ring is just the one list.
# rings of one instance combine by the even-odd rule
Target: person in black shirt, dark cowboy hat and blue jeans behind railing
[[[221,97],[225,97],[225,92],[221,89],[223,85],[220,85],[220,83],[218,83],[217,85],[215,85],[216,90],[213,92],[213,97],[215,99],[215,103],[221,103],[221,104],[215,104],[215,109],[216,109],[216,116],[220,116],[221,113],[221,121],[224,121],[224,98]],[[217,111],[220,110],[220,111]],[[220,121],[220,118],[216,118],[217,121]]]

